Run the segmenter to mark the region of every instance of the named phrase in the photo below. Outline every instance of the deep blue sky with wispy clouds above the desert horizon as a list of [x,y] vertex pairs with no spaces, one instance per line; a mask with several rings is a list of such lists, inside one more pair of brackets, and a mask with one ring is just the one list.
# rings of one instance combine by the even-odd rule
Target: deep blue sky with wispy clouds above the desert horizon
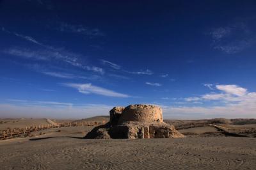
[[0,1],[0,116],[255,118],[255,1]]

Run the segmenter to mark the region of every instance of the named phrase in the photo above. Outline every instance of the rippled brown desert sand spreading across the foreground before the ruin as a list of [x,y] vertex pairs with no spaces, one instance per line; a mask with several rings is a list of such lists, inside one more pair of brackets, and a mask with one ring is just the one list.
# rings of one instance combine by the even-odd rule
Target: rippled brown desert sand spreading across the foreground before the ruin
[[90,129],[52,128],[0,141],[0,169],[256,169],[256,138],[83,139]]

